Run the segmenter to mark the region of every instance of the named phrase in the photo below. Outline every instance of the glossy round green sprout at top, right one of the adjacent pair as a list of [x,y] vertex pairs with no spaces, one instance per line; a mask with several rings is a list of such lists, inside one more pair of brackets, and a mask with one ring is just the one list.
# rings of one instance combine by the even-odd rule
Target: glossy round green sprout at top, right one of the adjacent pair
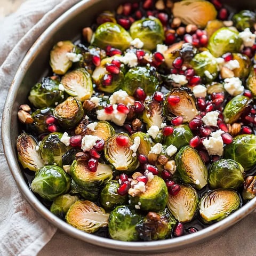
[[152,51],[157,44],[164,41],[164,29],[160,20],[155,17],[134,21],[130,27],[133,39],[139,38],[143,42],[143,48]]

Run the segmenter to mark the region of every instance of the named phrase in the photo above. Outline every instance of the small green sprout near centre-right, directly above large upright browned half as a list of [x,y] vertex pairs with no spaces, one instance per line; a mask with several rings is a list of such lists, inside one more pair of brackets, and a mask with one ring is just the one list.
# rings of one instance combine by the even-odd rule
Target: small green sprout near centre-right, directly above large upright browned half
[[181,147],[188,145],[192,137],[193,133],[187,124],[174,126],[173,133],[165,137],[165,145],[173,145],[180,149]]

